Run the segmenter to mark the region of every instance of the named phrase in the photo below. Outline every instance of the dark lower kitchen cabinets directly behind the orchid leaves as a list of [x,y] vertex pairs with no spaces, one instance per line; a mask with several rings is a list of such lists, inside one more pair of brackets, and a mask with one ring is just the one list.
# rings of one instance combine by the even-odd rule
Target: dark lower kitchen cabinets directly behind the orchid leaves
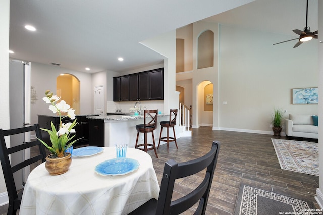
[[[95,115],[81,115],[76,116],[77,119],[77,125],[74,127],[76,136],[73,138],[79,139],[74,143],[75,144],[87,144],[89,141],[89,119],[87,119],[87,116],[95,116]],[[97,115],[98,116],[98,115]],[[52,122],[56,128],[56,130],[59,129],[60,126],[60,117],[59,116],[48,116],[48,115],[38,115],[38,123],[40,128],[46,128],[51,130],[51,123]],[[62,119],[63,123],[73,122],[74,120],[71,120],[70,118],[64,118]],[[71,133],[71,136],[74,135]],[[48,132],[41,131],[42,139],[45,141],[45,143],[50,144],[50,136]]]

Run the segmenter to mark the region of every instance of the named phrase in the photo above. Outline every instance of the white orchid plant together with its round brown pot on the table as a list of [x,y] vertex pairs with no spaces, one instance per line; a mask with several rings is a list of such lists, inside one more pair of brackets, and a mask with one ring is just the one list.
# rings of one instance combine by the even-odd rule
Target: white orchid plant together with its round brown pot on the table
[[[48,132],[51,144],[47,144],[41,139],[39,139],[39,141],[52,153],[46,157],[46,170],[50,175],[59,175],[67,172],[72,162],[71,154],[66,153],[65,150],[71,147],[78,140],[72,141],[75,135],[70,136],[70,133],[75,133],[74,127],[77,125],[77,120],[75,119],[75,110],[73,110],[64,100],[56,103],[61,99],[61,97],[54,95],[50,90],[47,90],[45,95],[46,96],[43,97],[43,100],[47,104],[51,104],[49,109],[54,114],[57,113],[59,115],[60,125],[58,131],[52,122],[51,130],[41,128],[41,130]],[[67,115],[62,116],[62,113],[67,113]],[[65,117],[75,120],[73,123],[62,123],[62,119]]]

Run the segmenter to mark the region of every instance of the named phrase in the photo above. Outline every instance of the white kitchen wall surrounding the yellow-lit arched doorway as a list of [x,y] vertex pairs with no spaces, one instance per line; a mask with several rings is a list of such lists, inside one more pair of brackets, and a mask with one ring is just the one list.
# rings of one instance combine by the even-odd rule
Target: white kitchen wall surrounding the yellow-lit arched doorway
[[38,123],[37,114],[53,115],[42,98],[46,90],[56,93],[56,78],[61,73],[74,75],[80,81],[80,114],[93,114],[92,74],[64,69],[58,66],[31,62],[31,86],[37,92],[37,101],[31,105],[31,123]]

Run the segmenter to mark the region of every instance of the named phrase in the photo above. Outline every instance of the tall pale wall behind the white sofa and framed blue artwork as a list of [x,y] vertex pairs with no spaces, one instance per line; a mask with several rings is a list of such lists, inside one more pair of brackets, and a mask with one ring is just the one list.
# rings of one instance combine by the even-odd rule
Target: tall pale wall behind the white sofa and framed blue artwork
[[[220,26],[219,124],[222,129],[271,131],[275,107],[318,114],[318,105],[291,104],[291,89],[318,86],[317,40],[293,48],[285,36]],[[227,105],[223,104],[227,101]]]

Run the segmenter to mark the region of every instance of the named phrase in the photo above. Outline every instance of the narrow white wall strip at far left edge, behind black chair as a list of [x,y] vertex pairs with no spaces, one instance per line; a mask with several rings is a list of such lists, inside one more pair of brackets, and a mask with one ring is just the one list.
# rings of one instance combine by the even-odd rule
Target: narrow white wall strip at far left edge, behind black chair
[[[9,0],[0,3],[0,128],[9,129]],[[0,206],[7,201],[7,189],[0,170]]]

